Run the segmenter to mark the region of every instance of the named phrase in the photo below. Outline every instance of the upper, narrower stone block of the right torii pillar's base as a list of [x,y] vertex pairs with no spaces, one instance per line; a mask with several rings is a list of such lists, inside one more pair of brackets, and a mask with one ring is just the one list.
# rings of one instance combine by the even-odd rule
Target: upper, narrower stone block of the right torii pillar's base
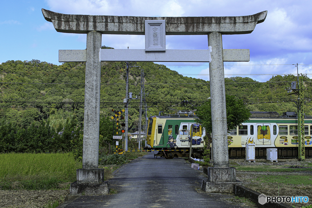
[[207,175],[209,182],[235,182],[235,167],[208,167]]

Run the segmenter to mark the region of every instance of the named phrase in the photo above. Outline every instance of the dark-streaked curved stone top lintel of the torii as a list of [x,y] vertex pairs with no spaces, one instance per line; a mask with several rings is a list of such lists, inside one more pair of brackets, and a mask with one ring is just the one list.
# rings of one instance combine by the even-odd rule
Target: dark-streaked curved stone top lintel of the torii
[[61,14],[42,9],[44,18],[58,32],[144,35],[145,20],[166,20],[166,35],[224,35],[251,33],[256,24],[266,19],[267,11],[239,17],[134,17],[106,15]]

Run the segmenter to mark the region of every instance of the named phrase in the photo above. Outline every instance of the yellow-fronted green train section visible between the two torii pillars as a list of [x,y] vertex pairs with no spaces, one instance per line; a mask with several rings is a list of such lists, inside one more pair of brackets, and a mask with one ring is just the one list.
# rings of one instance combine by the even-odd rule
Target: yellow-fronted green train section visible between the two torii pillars
[[147,149],[158,150],[155,156],[173,158],[188,157],[193,124],[192,156],[202,157],[205,131],[194,123],[194,113],[178,113],[168,116],[151,116],[147,129]]

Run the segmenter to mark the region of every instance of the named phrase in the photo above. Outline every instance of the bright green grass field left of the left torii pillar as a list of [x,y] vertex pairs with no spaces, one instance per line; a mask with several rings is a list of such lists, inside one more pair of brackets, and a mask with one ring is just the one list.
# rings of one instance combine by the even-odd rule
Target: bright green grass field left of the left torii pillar
[[81,167],[72,154],[0,154],[0,189],[68,189]]

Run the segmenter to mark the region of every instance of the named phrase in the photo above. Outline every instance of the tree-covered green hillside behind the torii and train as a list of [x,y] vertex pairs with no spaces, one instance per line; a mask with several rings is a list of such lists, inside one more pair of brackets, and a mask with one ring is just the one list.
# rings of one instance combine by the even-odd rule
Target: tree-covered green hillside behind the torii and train
[[[179,104],[174,108],[195,109],[195,105],[210,97],[209,81],[184,77],[164,65],[152,62],[138,62],[136,65],[144,69],[149,116],[158,115],[159,111],[174,113],[168,107],[183,100],[188,100],[191,104]],[[102,63],[101,117],[111,116],[112,108],[124,108],[125,68],[122,62]],[[31,124],[40,126],[43,120],[49,119],[50,126],[59,128],[65,125],[67,118],[75,116],[78,123],[83,123],[85,63],[64,63],[58,66],[39,60],[11,60],[0,65],[0,72],[2,122],[27,128]],[[130,68],[129,92],[133,93],[134,98],[139,96],[140,73],[139,67]],[[285,90],[290,86],[289,81],[296,80],[294,75],[277,75],[266,83],[259,83],[251,78],[226,78],[226,93],[243,99],[251,111],[277,111],[282,114],[297,110],[294,102],[286,102],[297,96],[289,96]],[[307,81],[305,97],[310,97],[312,80],[307,77],[304,80]],[[138,101],[139,99],[132,100],[129,104],[129,128],[132,131],[138,129]],[[305,106],[305,114],[311,115],[311,102],[306,102]]]

